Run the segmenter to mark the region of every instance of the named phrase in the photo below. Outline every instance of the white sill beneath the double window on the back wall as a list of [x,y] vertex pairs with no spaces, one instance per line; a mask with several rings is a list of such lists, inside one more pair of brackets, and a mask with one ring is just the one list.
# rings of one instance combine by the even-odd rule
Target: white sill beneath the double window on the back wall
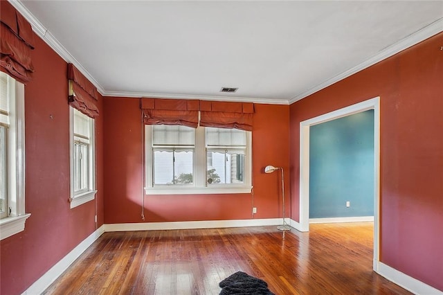
[[145,188],[146,195],[219,195],[219,194],[248,194],[251,193],[252,186],[216,186],[212,188],[196,187],[160,187]]

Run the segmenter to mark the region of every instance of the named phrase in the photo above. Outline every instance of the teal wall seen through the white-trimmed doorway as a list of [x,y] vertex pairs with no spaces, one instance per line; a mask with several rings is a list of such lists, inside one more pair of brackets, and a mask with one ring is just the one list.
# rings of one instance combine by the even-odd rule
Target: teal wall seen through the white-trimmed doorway
[[311,126],[309,134],[309,218],[373,216],[374,110]]

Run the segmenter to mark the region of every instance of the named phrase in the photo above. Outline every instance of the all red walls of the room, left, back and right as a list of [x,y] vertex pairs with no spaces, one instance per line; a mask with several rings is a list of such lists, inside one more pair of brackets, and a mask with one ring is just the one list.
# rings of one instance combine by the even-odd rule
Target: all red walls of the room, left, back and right
[[[381,261],[443,290],[442,38],[290,107],[255,105],[254,193],[147,196],[145,222],[249,219],[252,206],[255,218],[281,217],[278,175],[263,172],[269,164],[284,168],[287,207],[298,220],[300,121],[380,96]],[[25,231],[0,242],[1,294],[24,292],[103,223],[143,222],[139,100],[99,99],[97,202],[70,209],[66,62],[38,37],[32,54],[35,78],[25,87],[26,212],[32,215]]]

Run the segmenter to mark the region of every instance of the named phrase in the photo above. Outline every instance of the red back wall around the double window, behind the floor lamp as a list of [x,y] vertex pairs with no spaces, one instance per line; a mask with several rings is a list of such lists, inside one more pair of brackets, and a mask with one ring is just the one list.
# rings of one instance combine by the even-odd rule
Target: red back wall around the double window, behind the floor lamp
[[[143,222],[143,125],[140,100],[105,98],[105,223]],[[289,105],[255,105],[253,127],[254,194],[148,195],[145,222],[281,217],[278,175],[264,166],[288,167]],[[289,184],[289,174],[286,178]],[[288,191],[289,192],[289,191]],[[289,201],[288,201],[289,207]]]

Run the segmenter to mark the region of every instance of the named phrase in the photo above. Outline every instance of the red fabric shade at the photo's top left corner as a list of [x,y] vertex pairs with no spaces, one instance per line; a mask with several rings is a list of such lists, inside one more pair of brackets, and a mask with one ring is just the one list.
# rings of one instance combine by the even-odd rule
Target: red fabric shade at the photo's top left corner
[[0,71],[19,82],[33,80],[33,30],[26,19],[8,1],[0,1]]

